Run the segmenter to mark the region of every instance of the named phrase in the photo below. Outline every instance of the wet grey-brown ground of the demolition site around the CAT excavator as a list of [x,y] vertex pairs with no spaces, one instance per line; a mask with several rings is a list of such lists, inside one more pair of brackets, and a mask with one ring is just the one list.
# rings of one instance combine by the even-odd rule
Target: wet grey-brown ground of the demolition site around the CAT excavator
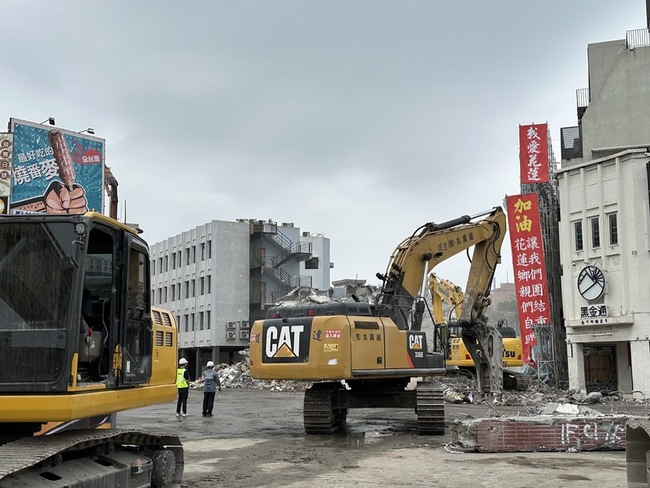
[[[190,390],[188,416],[169,403],[118,414],[118,426],[177,434],[185,447],[186,487],[625,487],[625,451],[461,452],[450,445],[454,419],[494,416],[485,404],[447,404],[444,436],[420,436],[402,409],[352,410],[331,436],[305,435],[302,391],[224,389],[215,416],[202,417],[203,392]],[[615,407],[644,415],[644,405]],[[530,407],[496,407],[528,415]]]

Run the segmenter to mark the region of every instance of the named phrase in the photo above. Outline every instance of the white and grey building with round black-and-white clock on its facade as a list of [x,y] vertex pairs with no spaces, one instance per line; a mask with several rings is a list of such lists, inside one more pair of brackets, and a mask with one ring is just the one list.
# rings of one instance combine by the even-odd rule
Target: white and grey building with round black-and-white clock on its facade
[[578,125],[561,130],[569,387],[650,395],[650,36],[590,44]]

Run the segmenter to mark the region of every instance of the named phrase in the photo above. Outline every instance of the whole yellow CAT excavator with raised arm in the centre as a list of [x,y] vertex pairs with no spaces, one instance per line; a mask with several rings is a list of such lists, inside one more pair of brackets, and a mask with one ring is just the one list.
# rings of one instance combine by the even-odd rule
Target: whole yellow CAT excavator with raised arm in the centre
[[[375,303],[271,307],[250,333],[251,375],[312,381],[305,392],[307,434],[335,432],[349,409],[413,408],[420,434],[445,431],[442,384],[445,339],[422,331],[426,276],[439,263],[473,248],[458,319],[477,365],[481,392],[501,392],[501,335],[485,316],[506,218],[501,207],[441,224],[426,223],[393,252]],[[420,378],[415,388],[412,380]],[[407,388],[408,387],[408,388]]]

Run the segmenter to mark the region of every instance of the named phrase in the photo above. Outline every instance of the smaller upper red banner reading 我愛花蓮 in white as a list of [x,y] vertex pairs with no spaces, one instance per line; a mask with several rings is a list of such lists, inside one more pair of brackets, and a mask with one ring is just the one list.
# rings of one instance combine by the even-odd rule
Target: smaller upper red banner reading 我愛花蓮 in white
[[548,182],[548,126],[519,126],[521,184]]

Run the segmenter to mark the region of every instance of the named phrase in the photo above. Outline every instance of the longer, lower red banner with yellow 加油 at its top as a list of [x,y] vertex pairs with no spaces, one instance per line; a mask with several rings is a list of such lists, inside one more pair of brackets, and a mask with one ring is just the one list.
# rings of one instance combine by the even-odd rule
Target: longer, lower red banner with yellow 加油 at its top
[[524,360],[534,364],[531,348],[537,338],[533,326],[551,322],[537,194],[508,196],[506,207]]

